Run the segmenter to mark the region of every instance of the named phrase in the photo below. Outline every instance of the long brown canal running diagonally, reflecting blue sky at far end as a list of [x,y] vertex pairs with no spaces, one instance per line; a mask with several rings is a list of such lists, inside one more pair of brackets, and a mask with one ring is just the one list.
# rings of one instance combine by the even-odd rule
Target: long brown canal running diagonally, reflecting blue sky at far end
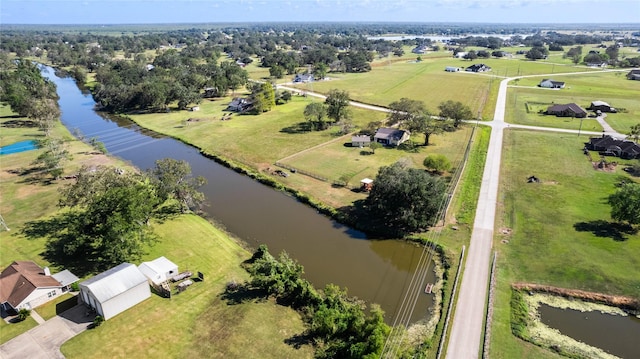
[[[351,296],[380,304],[392,324],[420,260],[421,246],[367,239],[295,198],[202,156],[194,147],[96,113],[91,95],[81,92],[73,79],[59,77],[49,67],[42,73],[57,86],[61,120],[70,131],[96,137],[110,154],[141,169],[167,157],[189,162],[194,175],[208,180],[201,188],[208,216],[253,247],[266,244],[274,255],[286,251],[304,266],[305,278],[316,288],[333,283],[346,287]],[[425,283],[434,281],[429,270]],[[426,318],[433,304],[432,294],[417,295],[411,322]]]

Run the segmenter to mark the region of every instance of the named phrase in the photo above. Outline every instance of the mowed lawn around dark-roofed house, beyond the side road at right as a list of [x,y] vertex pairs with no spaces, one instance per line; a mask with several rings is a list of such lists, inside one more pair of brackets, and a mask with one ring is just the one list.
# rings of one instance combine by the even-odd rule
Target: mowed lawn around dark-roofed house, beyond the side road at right
[[[583,121],[539,114],[552,104],[577,103],[588,108],[592,101],[605,101],[621,109],[619,113],[607,114],[606,121],[616,131],[627,133],[631,126],[640,123],[640,102],[637,100],[640,85],[625,78],[625,72],[594,72],[569,76],[553,76],[556,81],[566,83],[564,89],[551,90],[537,87],[543,77],[524,78],[512,81],[507,98],[507,120],[512,123],[602,131],[593,118]],[[521,87],[522,86],[522,87]],[[530,112],[527,113],[526,105]]]

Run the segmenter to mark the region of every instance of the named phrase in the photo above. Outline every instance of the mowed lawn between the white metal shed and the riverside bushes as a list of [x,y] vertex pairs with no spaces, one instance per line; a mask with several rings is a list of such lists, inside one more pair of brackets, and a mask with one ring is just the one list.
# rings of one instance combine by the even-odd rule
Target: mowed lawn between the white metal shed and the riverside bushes
[[[170,299],[155,294],[62,346],[67,358],[310,358],[285,340],[304,331],[299,315],[271,301],[227,304],[226,283],[247,279],[250,253],[195,215],[155,226],[160,242],[143,258],[161,255],[205,280]],[[126,344],[124,344],[126,343]]]

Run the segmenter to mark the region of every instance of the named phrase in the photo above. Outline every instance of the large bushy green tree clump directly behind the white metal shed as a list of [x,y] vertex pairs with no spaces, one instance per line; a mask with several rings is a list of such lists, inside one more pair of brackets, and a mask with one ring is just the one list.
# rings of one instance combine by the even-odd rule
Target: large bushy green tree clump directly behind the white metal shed
[[27,237],[47,238],[45,257],[61,266],[92,273],[137,261],[155,241],[149,225],[160,204],[144,176],[103,167],[83,168],[62,191],[57,216],[30,222]]

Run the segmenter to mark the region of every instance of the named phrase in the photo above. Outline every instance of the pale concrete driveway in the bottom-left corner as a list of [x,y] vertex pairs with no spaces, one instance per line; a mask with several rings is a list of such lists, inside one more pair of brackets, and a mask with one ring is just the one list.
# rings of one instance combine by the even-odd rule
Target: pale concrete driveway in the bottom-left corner
[[23,333],[0,346],[3,359],[50,359],[64,358],[60,346],[87,329],[94,315],[87,315],[84,305],[65,311],[43,324]]

